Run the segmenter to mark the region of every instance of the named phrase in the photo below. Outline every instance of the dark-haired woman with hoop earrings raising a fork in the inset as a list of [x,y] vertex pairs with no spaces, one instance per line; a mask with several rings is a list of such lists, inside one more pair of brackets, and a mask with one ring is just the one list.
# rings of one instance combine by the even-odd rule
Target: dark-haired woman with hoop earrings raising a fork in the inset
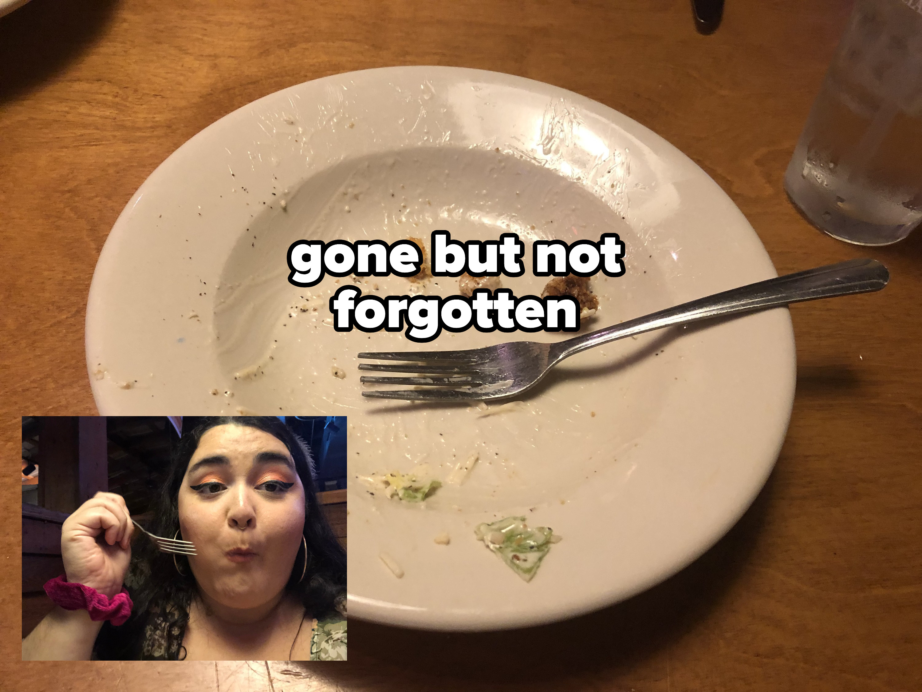
[[278,418],[213,418],[183,435],[146,528],[196,555],[143,537],[132,559],[120,495],[97,493],[65,520],[58,588],[112,599],[126,586],[132,614],[115,626],[57,605],[23,640],[24,660],[346,659],[346,554],[309,452]]

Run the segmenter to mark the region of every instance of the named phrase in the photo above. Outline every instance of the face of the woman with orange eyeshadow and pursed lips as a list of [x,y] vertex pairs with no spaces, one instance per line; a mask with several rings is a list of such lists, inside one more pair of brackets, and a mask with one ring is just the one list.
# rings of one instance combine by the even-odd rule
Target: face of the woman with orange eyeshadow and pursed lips
[[242,425],[199,440],[179,491],[183,540],[199,588],[233,608],[254,608],[288,581],[304,527],[304,487],[288,447]]

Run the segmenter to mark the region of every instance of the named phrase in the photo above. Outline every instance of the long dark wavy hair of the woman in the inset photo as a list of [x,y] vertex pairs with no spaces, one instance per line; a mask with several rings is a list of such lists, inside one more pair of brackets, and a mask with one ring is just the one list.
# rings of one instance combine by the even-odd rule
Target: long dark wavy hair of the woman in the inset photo
[[[303,547],[298,549],[286,591],[296,593],[313,617],[323,617],[345,604],[346,551],[326,521],[316,499],[311,470],[313,459],[301,438],[278,418],[271,416],[226,416],[207,418],[188,435],[183,435],[171,461],[166,482],[153,507],[153,520],[146,527],[157,536],[169,536],[179,530],[178,495],[189,460],[202,435],[218,425],[243,425],[262,430],[280,440],[294,459],[295,470],[304,486],[304,540],[307,543],[307,575],[299,583],[304,566]],[[126,583],[130,584],[135,607],[123,626],[106,622],[96,639],[95,653],[100,660],[132,661],[141,658],[145,630],[158,611],[167,623],[167,651],[178,651],[189,622],[189,606],[195,596],[195,578],[186,558],[176,555],[184,575],[177,572],[173,555],[160,553],[151,541],[132,545],[132,561]]]

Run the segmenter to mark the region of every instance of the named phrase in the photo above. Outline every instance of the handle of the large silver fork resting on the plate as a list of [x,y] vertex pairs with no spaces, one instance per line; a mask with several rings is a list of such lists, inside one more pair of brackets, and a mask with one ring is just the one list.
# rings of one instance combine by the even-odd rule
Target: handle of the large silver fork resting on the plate
[[554,363],[574,353],[609,341],[632,337],[654,329],[689,324],[709,317],[737,315],[769,307],[833,298],[836,295],[880,291],[890,280],[890,272],[874,259],[852,259],[825,267],[798,271],[774,279],[751,283],[729,291],[683,303],[665,310],[636,317],[556,344]]

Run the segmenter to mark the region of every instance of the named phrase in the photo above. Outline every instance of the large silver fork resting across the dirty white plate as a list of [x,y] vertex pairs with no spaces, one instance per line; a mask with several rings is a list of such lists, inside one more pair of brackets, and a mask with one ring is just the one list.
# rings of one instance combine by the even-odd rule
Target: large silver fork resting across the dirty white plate
[[609,341],[710,317],[739,315],[837,295],[880,291],[888,280],[890,272],[880,262],[853,259],[715,293],[558,343],[508,341],[467,351],[359,353],[360,358],[407,362],[361,363],[360,370],[421,375],[362,376],[363,383],[442,387],[363,391],[361,395],[374,399],[417,401],[504,399],[534,387],[550,368],[563,359]]

